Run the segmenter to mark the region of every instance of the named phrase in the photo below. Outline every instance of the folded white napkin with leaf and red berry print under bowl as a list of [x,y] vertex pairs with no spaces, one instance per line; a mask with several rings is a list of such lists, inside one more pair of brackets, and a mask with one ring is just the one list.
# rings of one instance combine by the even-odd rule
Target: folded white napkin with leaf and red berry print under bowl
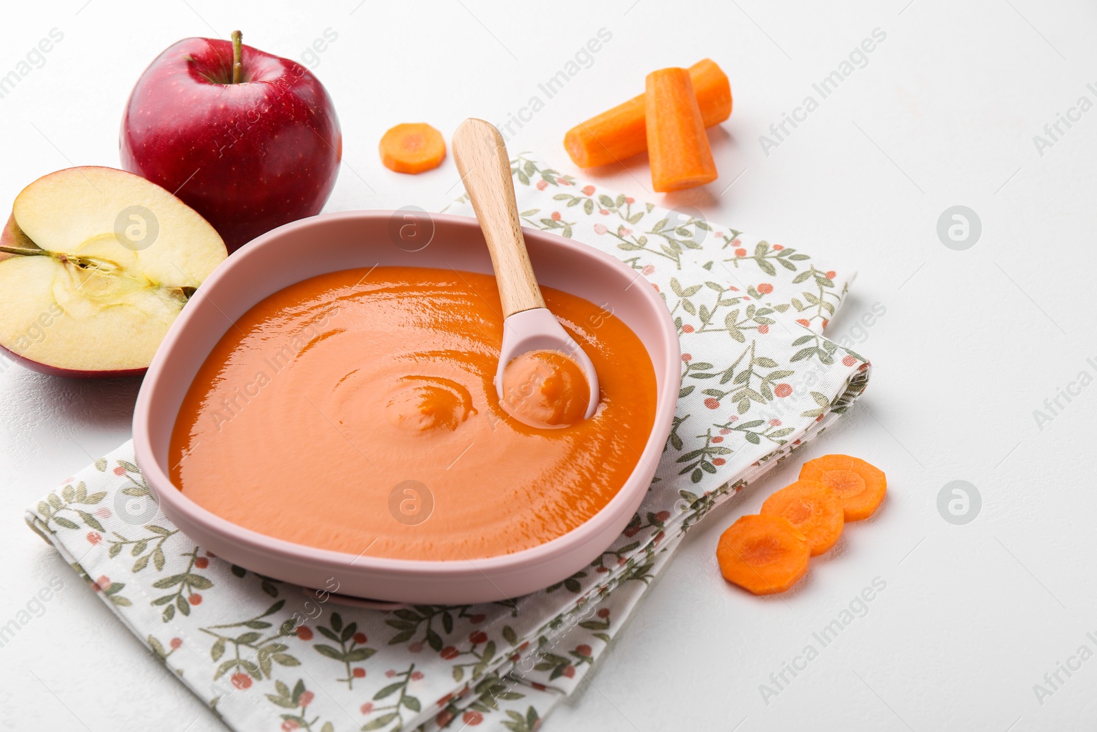
[[[159,513],[128,443],[27,513],[31,528],[230,728],[540,727],[686,530],[864,388],[868,362],[822,336],[850,274],[529,156],[512,161],[512,174],[527,226],[622,259],[661,293],[681,337],[678,410],[655,481],[588,567],[500,603],[342,607],[327,592],[308,596],[195,545]],[[472,215],[465,196],[446,211]]]

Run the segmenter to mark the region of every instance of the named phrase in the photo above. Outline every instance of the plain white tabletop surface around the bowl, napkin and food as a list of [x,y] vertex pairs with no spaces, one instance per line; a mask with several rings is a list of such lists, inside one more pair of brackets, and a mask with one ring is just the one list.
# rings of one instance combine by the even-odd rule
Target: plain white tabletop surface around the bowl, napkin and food
[[[299,58],[326,29],[338,33],[315,67],[344,135],[329,211],[440,207],[457,180],[452,160],[392,173],[376,153],[382,133],[427,121],[449,136],[465,116],[504,121],[601,27],[612,40],[511,139],[512,151],[574,170],[565,129],[638,93],[653,69],[712,57],[735,95],[712,134],[720,180],[664,201],[859,270],[830,335],[848,334],[875,303],[886,308],[853,346],[872,360],[872,382],[800,454],[870,460],[887,473],[887,500],[813,560],[799,587],[760,599],[721,579],[716,539],[799,463],[750,486],[689,536],[546,729],[1092,729],[1097,658],[1042,705],[1032,687],[1083,643],[1097,651],[1086,638],[1097,631],[1097,385],[1042,430],[1032,412],[1079,371],[1097,375],[1086,363],[1097,362],[1097,111],[1042,156],[1032,137],[1078,97],[1097,102],[1086,89],[1097,82],[1097,10],[1082,0],[906,3],[22,3],[0,23],[0,75],[50,29],[65,38],[0,99],[0,205],[55,169],[116,166],[129,89],[189,35],[240,27],[246,43]],[[868,65],[767,157],[759,135],[877,27],[886,40]],[[643,156],[599,180],[661,198],[647,193]],[[955,204],[982,219],[965,251],[936,234]],[[137,390],[135,380],[68,381],[15,365],[0,374],[0,623],[50,577],[66,583],[0,649],[0,729],[224,729],[23,523],[25,507],[128,437]],[[953,480],[983,497],[966,526],[937,510]],[[868,615],[765,703],[759,685],[874,577],[886,588]]]

